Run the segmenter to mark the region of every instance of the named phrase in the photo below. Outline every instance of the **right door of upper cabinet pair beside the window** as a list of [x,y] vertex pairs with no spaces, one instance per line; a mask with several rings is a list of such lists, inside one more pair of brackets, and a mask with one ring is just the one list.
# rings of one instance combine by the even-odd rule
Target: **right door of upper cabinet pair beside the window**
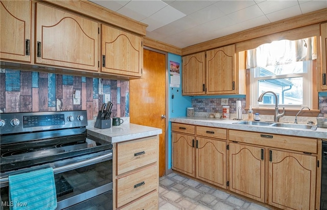
[[206,52],[206,94],[233,94],[236,83],[235,45]]

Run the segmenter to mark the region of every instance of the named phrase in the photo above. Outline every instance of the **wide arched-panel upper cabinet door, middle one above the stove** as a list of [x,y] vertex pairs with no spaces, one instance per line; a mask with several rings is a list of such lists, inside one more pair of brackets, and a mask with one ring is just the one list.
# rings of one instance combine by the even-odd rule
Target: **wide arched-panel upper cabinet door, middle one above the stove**
[[40,64],[98,71],[98,23],[36,4],[36,57]]

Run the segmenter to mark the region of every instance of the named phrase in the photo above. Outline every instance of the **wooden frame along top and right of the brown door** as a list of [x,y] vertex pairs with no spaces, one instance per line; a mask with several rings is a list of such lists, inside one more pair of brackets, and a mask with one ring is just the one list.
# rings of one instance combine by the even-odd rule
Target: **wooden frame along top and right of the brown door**
[[156,52],[156,53],[160,53],[160,54],[164,54],[165,55],[165,68],[166,68],[166,73],[165,73],[165,96],[166,96],[166,98],[165,98],[165,112],[166,112],[166,119],[165,119],[165,130],[166,130],[166,132],[165,132],[165,145],[166,145],[166,172],[165,172],[165,175],[167,175],[167,174],[170,174],[170,173],[172,173],[173,172],[173,170],[172,169],[168,169],[168,155],[169,155],[169,153],[168,153],[168,151],[169,151],[169,148],[168,148],[168,146],[169,146],[169,144],[168,144],[168,125],[169,125],[169,103],[168,103],[168,101],[169,101],[169,92],[168,92],[168,88],[169,88],[169,71],[168,71],[168,53],[167,52],[164,52],[164,51],[160,51],[160,50],[156,50],[156,49],[153,49],[153,48],[149,48],[149,47],[147,47],[147,46],[143,46],[143,49],[145,49],[145,50],[149,50],[149,51],[153,51],[153,52]]

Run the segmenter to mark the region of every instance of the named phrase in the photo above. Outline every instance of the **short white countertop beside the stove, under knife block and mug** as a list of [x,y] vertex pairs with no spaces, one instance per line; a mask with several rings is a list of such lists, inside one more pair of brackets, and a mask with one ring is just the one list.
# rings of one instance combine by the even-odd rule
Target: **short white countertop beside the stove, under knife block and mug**
[[106,129],[87,126],[86,132],[108,142],[119,143],[136,138],[158,135],[162,133],[162,130],[154,127],[123,123],[120,126],[111,126],[111,128]]

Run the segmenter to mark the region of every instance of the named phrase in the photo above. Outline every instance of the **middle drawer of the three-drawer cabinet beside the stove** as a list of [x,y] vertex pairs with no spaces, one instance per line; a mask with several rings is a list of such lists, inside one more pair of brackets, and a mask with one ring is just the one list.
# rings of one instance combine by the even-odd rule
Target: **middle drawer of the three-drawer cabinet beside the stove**
[[153,164],[128,176],[116,179],[117,207],[158,190],[158,165]]

